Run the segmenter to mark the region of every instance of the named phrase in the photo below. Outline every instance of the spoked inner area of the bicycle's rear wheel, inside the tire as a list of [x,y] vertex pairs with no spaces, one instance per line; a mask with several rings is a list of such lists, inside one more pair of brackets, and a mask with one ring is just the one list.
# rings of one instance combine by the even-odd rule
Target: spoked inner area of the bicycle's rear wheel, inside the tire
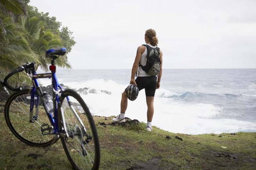
[[[71,97],[69,96],[69,98]],[[66,119],[65,125],[69,133],[69,137],[65,139],[65,143],[67,144],[69,155],[77,166],[92,167],[94,165],[95,150],[92,140],[93,136],[89,130],[90,123],[84,114],[83,107],[79,106],[78,101],[73,100],[71,102],[65,98],[62,102],[62,110]]]

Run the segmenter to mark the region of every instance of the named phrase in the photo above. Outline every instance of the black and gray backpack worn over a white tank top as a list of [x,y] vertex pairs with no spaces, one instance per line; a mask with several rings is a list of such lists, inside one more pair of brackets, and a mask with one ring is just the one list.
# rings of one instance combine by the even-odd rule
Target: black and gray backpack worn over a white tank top
[[147,62],[145,66],[139,64],[139,67],[142,68],[146,73],[151,76],[156,76],[160,71],[160,48],[152,48],[148,44],[143,44],[147,48],[148,55],[147,55]]

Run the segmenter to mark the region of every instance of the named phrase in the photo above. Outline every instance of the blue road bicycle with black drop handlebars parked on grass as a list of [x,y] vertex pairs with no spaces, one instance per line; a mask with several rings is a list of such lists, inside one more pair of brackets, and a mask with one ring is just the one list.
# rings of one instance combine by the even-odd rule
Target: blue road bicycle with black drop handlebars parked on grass
[[[18,67],[1,81],[5,91],[8,92],[6,87],[15,91],[6,101],[5,121],[18,139],[31,146],[51,147],[60,138],[74,169],[99,169],[100,144],[92,115],[80,95],[71,89],[64,90],[55,74],[55,60],[66,51],[46,51],[46,57],[52,59],[51,73],[36,74],[33,62]],[[9,85],[8,79],[24,70],[32,78],[33,86],[23,90]],[[52,78],[52,97],[42,91],[37,78]]]

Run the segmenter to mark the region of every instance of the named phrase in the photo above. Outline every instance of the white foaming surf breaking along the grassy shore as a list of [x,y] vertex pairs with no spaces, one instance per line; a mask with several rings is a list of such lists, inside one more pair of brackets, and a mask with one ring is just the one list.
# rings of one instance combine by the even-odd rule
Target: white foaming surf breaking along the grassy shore
[[[121,93],[127,86],[104,79],[73,81],[65,85],[80,93],[93,115],[101,116],[120,113]],[[256,123],[227,116],[224,109],[226,105],[237,107],[239,103],[246,102],[244,99],[252,97],[255,96],[228,93],[178,93],[160,88],[156,90],[152,124],[170,132],[186,134],[256,131]],[[145,92],[141,90],[135,101],[128,102],[126,116],[147,122],[146,115]]]

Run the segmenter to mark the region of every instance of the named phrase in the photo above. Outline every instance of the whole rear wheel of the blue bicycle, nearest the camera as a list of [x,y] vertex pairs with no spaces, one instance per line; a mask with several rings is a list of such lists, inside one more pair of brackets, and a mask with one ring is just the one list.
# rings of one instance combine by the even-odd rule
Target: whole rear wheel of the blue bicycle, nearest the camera
[[100,144],[92,115],[77,92],[65,90],[60,98],[61,142],[74,169],[99,169]]

